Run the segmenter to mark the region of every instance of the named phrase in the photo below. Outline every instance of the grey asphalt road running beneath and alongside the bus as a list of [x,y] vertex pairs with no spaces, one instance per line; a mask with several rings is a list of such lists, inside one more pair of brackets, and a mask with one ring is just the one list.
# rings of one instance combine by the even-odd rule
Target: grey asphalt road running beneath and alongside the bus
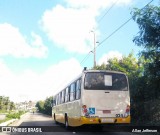
[[[23,132],[27,130],[27,132],[16,132],[17,127],[15,129],[12,128],[12,131],[14,132],[6,132],[2,133],[2,135],[133,135],[133,133],[127,132],[103,132],[103,129],[98,129],[96,127],[72,128],[70,130],[66,130],[62,124],[55,124],[50,116],[41,113],[27,113],[20,120],[15,121],[10,126],[21,127],[19,130],[23,130]],[[44,128],[44,126],[47,127]],[[28,130],[30,130],[30,132],[28,132]],[[31,133],[33,130],[38,130],[40,132]],[[44,130],[50,132],[43,132]]]

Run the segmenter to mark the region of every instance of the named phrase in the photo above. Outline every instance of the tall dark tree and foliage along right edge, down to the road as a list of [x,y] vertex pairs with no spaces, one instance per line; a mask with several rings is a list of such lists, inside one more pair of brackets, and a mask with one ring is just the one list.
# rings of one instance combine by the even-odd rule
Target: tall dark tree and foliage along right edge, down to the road
[[155,125],[160,118],[160,7],[148,5],[135,8],[133,20],[139,26],[134,42],[144,49],[140,53],[143,76],[138,85],[134,101],[134,122]]

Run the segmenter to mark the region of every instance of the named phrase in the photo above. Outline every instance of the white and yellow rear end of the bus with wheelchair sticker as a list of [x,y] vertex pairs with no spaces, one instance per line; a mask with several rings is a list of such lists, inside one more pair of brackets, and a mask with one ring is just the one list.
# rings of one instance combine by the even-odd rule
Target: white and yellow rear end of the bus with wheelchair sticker
[[128,79],[121,72],[84,71],[83,124],[130,123]]

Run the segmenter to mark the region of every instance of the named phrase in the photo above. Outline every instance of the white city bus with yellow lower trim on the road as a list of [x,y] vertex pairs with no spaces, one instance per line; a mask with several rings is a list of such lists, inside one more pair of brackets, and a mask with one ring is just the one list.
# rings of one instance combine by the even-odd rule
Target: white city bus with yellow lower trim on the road
[[54,96],[52,117],[66,128],[88,124],[130,123],[130,94],[122,72],[83,70]]

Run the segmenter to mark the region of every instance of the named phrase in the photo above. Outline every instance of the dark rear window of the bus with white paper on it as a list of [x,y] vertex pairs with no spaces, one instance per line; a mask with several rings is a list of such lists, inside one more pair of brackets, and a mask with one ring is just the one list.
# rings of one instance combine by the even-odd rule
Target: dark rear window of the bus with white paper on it
[[84,89],[86,90],[128,90],[124,74],[109,72],[87,72]]

